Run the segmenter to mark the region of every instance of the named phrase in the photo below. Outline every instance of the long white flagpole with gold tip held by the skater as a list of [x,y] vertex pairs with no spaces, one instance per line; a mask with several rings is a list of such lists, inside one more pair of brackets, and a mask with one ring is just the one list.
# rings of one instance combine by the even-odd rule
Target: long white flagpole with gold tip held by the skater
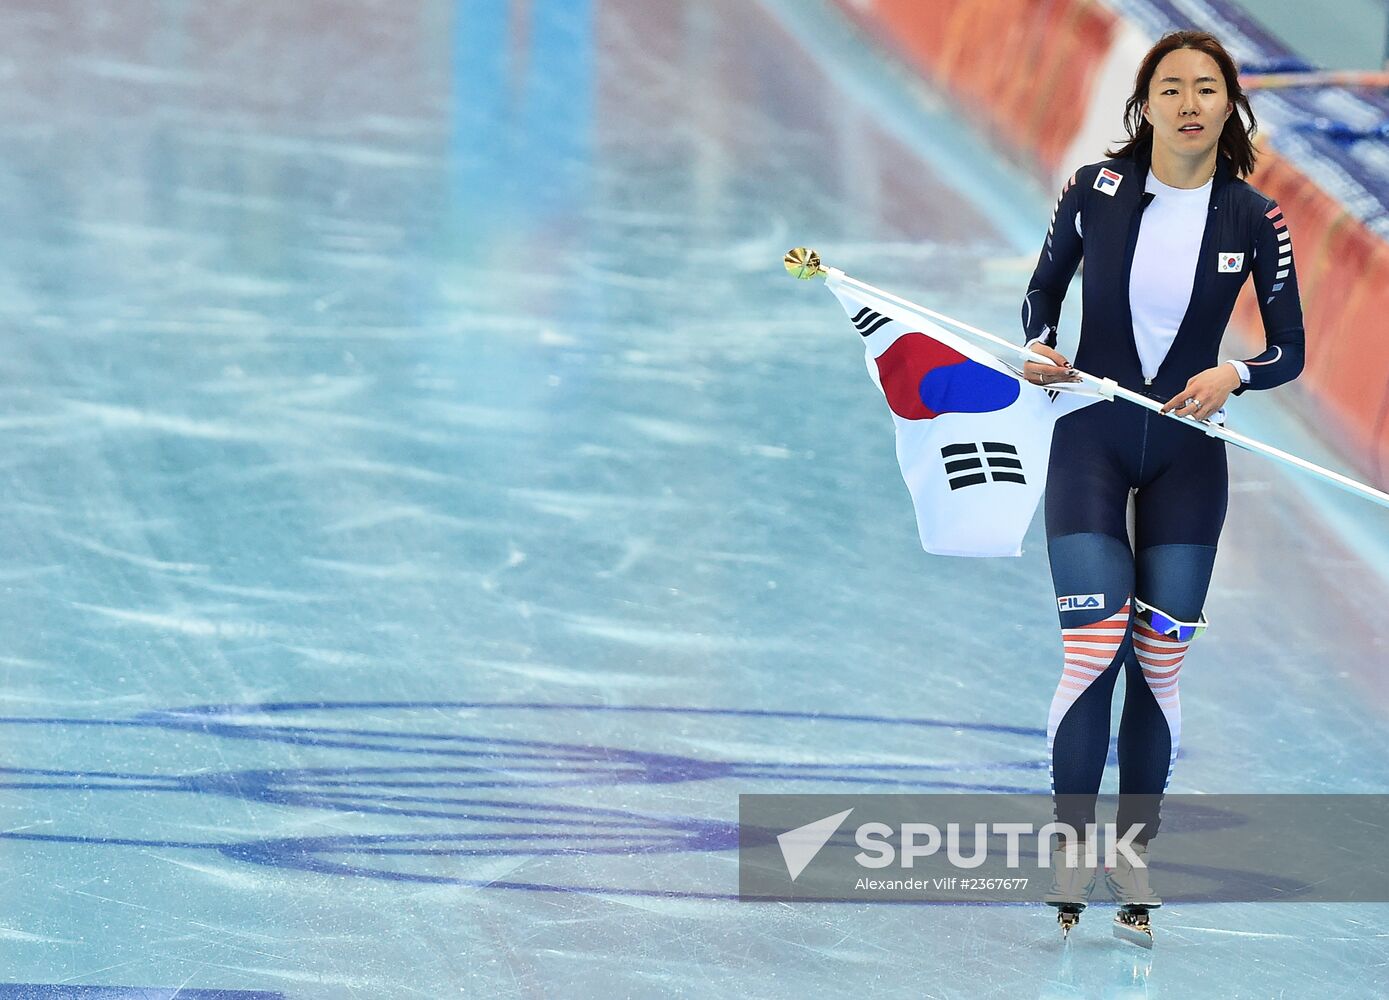
[[[883,292],[882,289],[868,285],[867,282],[861,282],[857,278],[850,278],[839,268],[822,267],[820,262],[820,254],[817,254],[814,250],[796,247],[795,250],[786,253],[783,262],[786,265],[786,269],[796,278],[808,279],[808,278],[817,278],[820,275],[824,275],[826,278],[832,276],[836,282],[839,282],[846,288],[851,288],[858,294],[876,299],[903,312],[914,312],[918,317],[933,319],[936,322],[943,322],[963,333],[968,333],[971,336],[979,338],[981,340],[986,340],[995,347],[1001,347],[1003,350],[1008,351],[1014,357],[1018,357],[1024,361],[1035,361],[1039,357],[1035,351],[1022,347],[1021,344],[1004,340],[1000,336],[988,333],[976,326],[971,326],[970,324],[960,322],[953,317],[947,317],[943,312],[936,312],[935,310],[929,310],[925,306],[918,306],[917,303],[895,296],[890,292]],[[1220,424],[1199,421],[1193,417],[1179,417],[1175,412],[1164,414],[1161,403],[1158,403],[1157,400],[1151,400],[1147,396],[1142,396],[1136,392],[1125,389],[1124,386],[1118,385],[1114,379],[1096,378],[1095,375],[1089,375],[1082,371],[1078,371],[1076,374],[1079,375],[1082,383],[1093,386],[1106,399],[1124,399],[1128,400],[1129,403],[1143,407],[1145,410],[1151,410],[1156,414],[1167,417],[1168,419],[1175,419],[1179,424],[1190,424],[1193,428],[1201,431],[1203,433],[1211,438],[1220,438],[1221,440],[1229,442],[1231,444],[1242,447],[1246,451],[1253,451],[1256,454],[1265,456],[1267,458],[1272,458],[1274,461],[1279,461],[1285,465],[1292,465],[1293,468],[1299,468],[1303,472],[1310,472],[1314,476],[1325,479],[1333,486],[1339,486],[1347,493],[1354,493],[1356,496],[1364,497],[1365,500],[1376,503],[1381,507],[1389,507],[1389,493],[1378,490],[1374,486],[1357,482],[1356,479],[1345,476],[1340,472],[1332,472],[1331,469],[1317,465],[1315,462],[1310,462],[1306,458],[1299,458],[1297,456],[1282,451],[1281,449],[1275,449],[1271,444],[1264,444],[1263,442],[1254,440],[1253,438],[1242,435],[1236,431],[1226,431]],[[1021,378],[1021,372],[1018,376]],[[1060,383],[1054,388],[1061,389],[1064,385],[1065,383]]]

